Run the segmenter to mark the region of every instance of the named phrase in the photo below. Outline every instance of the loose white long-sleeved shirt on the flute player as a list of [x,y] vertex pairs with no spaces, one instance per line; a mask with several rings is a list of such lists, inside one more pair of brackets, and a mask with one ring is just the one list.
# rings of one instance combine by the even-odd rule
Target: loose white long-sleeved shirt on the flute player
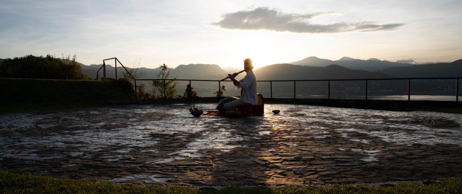
[[255,77],[254,71],[249,71],[247,75],[241,80],[239,80],[241,85],[237,88],[242,88],[242,102],[257,104],[257,78]]

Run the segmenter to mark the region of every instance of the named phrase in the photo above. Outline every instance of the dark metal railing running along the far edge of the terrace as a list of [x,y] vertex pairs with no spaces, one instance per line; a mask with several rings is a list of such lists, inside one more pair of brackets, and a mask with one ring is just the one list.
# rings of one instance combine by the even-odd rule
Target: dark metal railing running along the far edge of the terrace
[[[221,91],[221,82],[231,82],[231,80],[206,80],[206,79],[135,79],[134,76],[125,68],[122,63],[117,59],[117,58],[110,58],[110,59],[105,59],[103,60],[103,66],[99,68],[97,71],[97,79],[99,80],[99,71],[103,69],[103,79],[106,79],[106,61],[108,60],[115,60],[115,68],[116,68],[116,79],[117,79],[117,62],[127,71],[127,73],[131,76],[131,78],[134,80],[134,87],[135,87],[135,98],[137,98],[137,82],[138,81],[153,81],[153,80],[163,80],[164,81],[164,98],[166,98],[166,85],[165,81],[166,80],[174,80],[174,81],[189,81],[189,85],[191,85],[191,81],[207,81],[207,82],[218,82],[218,91]],[[269,82],[270,84],[270,97],[273,98],[273,82],[293,82],[293,98],[297,98],[297,82],[326,82],[327,83],[327,98],[331,99],[331,82],[336,82],[336,81],[359,81],[359,82],[364,82],[364,99],[368,100],[368,87],[370,87],[368,84],[371,81],[383,81],[383,80],[405,80],[407,81],[407,100],[411,100],[411,80],[424,80],[424,79],[436,79],[436,80],[450,80],[454,79],[455,80],[455,98],[456,102],[459,101],[459,79],[458,77],[455,78],[390,78],[390,79],[304,79],[304,80],[257,80],[257,82]],[[359,87],[359,86],[357,86]]]

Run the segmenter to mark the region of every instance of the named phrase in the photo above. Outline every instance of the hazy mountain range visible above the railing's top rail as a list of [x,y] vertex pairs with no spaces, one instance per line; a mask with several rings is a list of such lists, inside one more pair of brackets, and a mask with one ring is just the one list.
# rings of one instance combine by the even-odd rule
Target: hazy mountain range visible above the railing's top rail
[[[2,60],[0,59],[0,62]],[[314,56],[300,61],[285,64],[274,64],[254,69],[258,80],[304,80],[304,79],[386,79],[386,78],[422,78],[422,77],[462,77],[462,60],[444,63],[413,64],[411,63],[381,61],[375,58],[359,60],[350,57],[342,57],[332,61],[320,59]],[[415,62],[414,62],[415,63]],[[95,79],[100,65],[84,65],[82,72]],[[128,67],[126,67],[129,69]],[[222,69],[215,64],[189,64],[179,65],[176,68],[168,68],[170,78],[178,79],[209,79],[219,80],[228,73],[239,71],[238,69]],[[117,67],[118,76],[125,71]],[[137,74],[140,79],[156,79],[160,68],[140,67]],[[243,78],[241,73],[237,79]],[[115,68],[106,65],[106,76],[115,77]],[[99,77],[103,77],[100,71]]]

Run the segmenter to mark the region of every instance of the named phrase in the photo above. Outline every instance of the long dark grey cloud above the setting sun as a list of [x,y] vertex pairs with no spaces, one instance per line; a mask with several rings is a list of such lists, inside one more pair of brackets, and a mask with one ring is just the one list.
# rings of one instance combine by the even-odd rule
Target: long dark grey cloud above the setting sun
[[362,21],[334,24],[312,24],[312,18],[325,15],[341,15],[342,12],[317,12],[310,14],[283,13],[267,7],[223,14],[222,20],[210,25],[224,29],[271,30],[295,33],[338,33],[347,31],[396,30],[404,24],[377,24]]

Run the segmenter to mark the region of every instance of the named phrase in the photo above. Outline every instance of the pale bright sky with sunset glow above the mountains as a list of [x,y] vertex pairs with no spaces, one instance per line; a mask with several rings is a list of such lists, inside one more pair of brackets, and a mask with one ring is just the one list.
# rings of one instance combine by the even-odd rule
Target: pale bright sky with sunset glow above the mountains
[[310,56],[462,59],[461,0],[0,0],[0,58],[256,68]]

